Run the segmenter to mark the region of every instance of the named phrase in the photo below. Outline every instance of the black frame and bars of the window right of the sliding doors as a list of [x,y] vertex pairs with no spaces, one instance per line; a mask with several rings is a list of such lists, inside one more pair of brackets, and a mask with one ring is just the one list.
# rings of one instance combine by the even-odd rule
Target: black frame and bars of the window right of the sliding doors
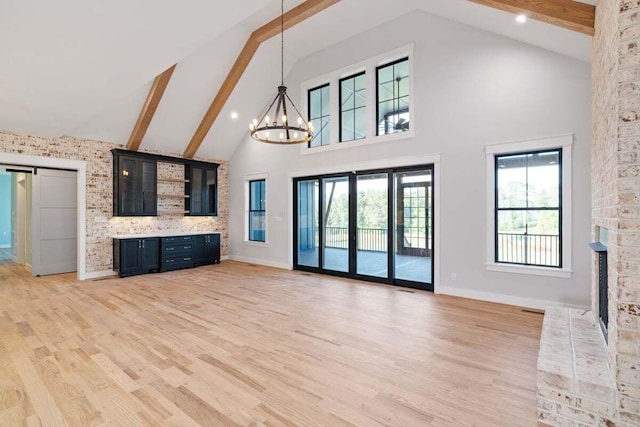
[[[498,172],[500,170],[499,168],[499,160],[500,158],[503,157],[510,157],[510,156],[518,156],[518,155],[522,155],[522,156],[529,156],[529,155],[535,155],[535,154],[545,154],[545,153],[558,153],[558,206],[557,207],[543,207],[543,206],[536,206],[536,207],[531,207],[529,206],[529,198],[527,196],[527,200],[526,200],[526,207],[510,207],[510,208],[501,208],[499,206],[499,191],[498,191]],[[528,168],[528,166],[527,166]],[[528,172],[527,172],[527,178],[526,178],[526,184],[527,188],[529,187],[529,176],[528,176]],[[528,191],[527,191],[528,194]],[[494,236],[495,236],[495,246],[494,246],[494,262],[496,264],[509,264],[509,265],[524,265],[524,266],[530,266],[530,267],[548,267],[548,268],[557,268],[557,269],[562,269],[562,148],[550,148],[550,149],[545,149],[545,150],[535,150],[535,151],[524,151],[524,152],[518,152],[518,153],[500,153],[500,154],[495,154],[494,155],[494,195],[495,195],[495,202],[494,202],[494,221],[495,221],[495,229],[494,229]],[[557,211],[558,212],[558,248],[559,248],[559,252],[558,252],[558,265],[545,265],[545,264],[534,264],[534,263],[530,263],[530,262],[526,262],[527,260],[525,260],[525,262],[509,262],[509,261],[499,261],[498,260],[498,236],[499,236],[499,227],[498,227],[498,214],[500,212],[508,212],[508,211],[522,211],[522,212],[529,212],[529,211]],[[528,235],[528,234],[524,234],[524,235]]]

